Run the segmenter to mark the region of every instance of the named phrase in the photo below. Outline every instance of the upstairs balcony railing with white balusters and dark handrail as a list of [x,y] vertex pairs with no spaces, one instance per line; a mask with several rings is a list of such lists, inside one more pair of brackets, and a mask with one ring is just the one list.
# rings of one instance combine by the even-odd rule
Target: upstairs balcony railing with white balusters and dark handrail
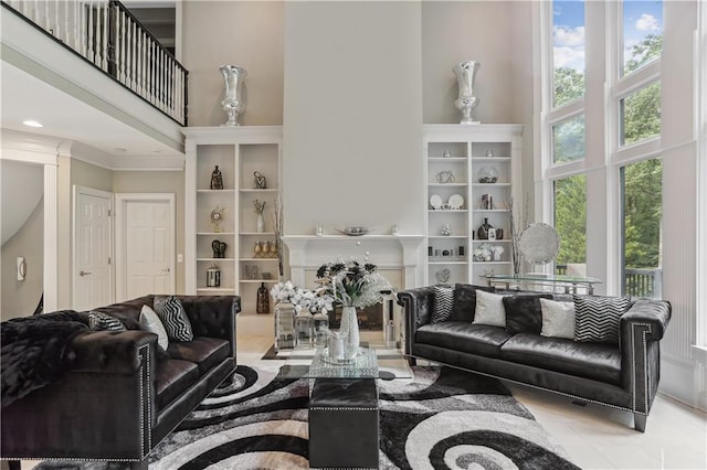
[[1,0],[182,126],[187,70],[116,0]]

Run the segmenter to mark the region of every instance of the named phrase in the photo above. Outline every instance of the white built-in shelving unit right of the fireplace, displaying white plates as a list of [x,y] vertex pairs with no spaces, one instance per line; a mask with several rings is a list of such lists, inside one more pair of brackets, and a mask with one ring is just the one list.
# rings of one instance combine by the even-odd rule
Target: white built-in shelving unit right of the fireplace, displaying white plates
[[[519,125],[424,126],[428,285],[485,284],[482,276],[487,273],[510,273],[506,204],[511,197],[516,204],[521,201],[521,135]],[[496,170],[497,180],[481,182],[479,172],[489,168]],[[490,196],[493,209],[482,205],[484,195]],[[463,200],[463,204],[457,207],[455,200]],[[503,231],[500,239],[478,238],[485,220]],[[445,225],[451,235],[444,234]],[[474,250],[486,243],[503,248],[499,259],[474,258]]]

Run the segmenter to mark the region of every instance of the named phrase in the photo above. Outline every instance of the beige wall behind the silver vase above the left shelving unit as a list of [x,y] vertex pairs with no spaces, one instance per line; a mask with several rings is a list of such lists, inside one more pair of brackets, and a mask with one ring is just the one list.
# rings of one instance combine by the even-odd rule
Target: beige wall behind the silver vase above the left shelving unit
[[283,11],[278,1],[182,2],[182,64],[189,71],[189,126],[219,126],[223,78],[240,65],[245,78],[243,126],[283,122]]

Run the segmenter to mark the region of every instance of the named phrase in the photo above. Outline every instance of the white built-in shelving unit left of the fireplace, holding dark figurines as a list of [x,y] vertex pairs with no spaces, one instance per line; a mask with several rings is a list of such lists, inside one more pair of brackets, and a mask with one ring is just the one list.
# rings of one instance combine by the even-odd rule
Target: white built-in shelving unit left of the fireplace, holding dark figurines
[[[187,293],[239,295],[241,316],[255,316],[257,288],[264,284],[270,290],[279,274],[277,257],[256,255],[254,248],[256,242],[275,243],[273,224],[275,204],[281,196],[282,127],[188,127],[183,133]],[[222,190],[210,189],[215,165],[223,177]],[[265,189],[255,188],[255,171],[265,177]],[[257,232],[255,200],[265,201],[264,232]],[[221,232],[215,232],[210,223],[217,206],[223,209]],[[211,244],[217,239],[228,245],[223,258],[213,257]],[[220,287],[207,287],[207,269],[211,266],[221,271]],[[257,269],[255,276],[254,269]]]

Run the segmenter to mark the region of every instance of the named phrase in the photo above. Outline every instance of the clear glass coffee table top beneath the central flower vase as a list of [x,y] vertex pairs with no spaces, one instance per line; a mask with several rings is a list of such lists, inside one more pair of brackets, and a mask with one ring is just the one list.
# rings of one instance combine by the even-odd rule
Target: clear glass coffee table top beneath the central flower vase
[[279,376],[285,378],[412,378],[408,360],[397,348],[387,348],[382,343],[361,342],[357,357],[350,364],[327,361],[325,350],[292,350],[278,352],[285,362]]

